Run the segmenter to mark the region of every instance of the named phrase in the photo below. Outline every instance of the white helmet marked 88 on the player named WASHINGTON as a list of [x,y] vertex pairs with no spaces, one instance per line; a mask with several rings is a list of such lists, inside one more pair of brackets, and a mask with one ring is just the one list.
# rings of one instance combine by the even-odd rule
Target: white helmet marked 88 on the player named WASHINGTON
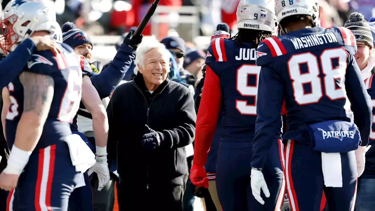
[[313,26],[320,26],[320,5],[316,0],[275,0],[275,12],[279,23],[291,15],[310,15]]

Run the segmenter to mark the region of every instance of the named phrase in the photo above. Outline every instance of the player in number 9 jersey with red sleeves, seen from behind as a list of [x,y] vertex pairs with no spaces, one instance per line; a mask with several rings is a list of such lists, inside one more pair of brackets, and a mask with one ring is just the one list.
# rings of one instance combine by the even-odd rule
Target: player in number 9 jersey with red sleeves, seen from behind
[[[237,7],[239,33],[233,39],[214,39],[207,51],[207,70],[196,123],[193,167],[190,179],[196,186],[208,186],[204,169],[223,109],[222,137],[217,151],[216,187],[223,211],[275,210],[284,199],[282,142],[274,142],[264,168],[270,191],[266,202],[251,194],[252,139],[257,115],[258,76],[255,65],[260,41],[276,33],[274,2],[241,0]],[[280,122],[281,124],[281,122]]]

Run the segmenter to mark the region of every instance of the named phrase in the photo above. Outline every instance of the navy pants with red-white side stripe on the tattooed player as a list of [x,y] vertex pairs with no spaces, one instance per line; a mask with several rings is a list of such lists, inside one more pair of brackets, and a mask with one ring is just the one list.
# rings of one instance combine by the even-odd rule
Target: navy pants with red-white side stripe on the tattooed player
[[17,187],[10,191],[7,210],[67,211],[79,178],[68,145],[61,142],[37,151],[31,154]]

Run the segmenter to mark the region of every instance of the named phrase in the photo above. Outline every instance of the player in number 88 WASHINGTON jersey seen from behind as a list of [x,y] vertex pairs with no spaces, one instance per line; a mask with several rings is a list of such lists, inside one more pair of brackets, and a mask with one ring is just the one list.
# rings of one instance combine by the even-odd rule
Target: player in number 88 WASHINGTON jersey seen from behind
[[264,39],[258,47],[263,56],[257,59],[262,68],[251,160],[254,197],[261,202],[261,189],[268,191],[263,173],[270,146],[280,138],[284,99],[292,211],[319,211],[323,190],[330,211],[353,210],[372,122],[371,100],[354,57],[356,40],[344,27],[320,27],[316,1],[276,0],[275,11],[285,35]]

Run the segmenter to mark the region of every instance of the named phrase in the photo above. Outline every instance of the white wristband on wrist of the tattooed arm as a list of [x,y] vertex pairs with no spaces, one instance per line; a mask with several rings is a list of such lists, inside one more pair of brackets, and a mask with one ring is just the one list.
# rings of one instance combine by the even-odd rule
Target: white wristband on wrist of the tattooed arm
[[20,175],[23,169],[25,168],[28,159],[30,158],[32,152],[24,151],[20,148],[17,148],[15,145],[12,146],[10,151],[9,158],[7,161],[7,166],[3,170],[7,174],[17,174]]

